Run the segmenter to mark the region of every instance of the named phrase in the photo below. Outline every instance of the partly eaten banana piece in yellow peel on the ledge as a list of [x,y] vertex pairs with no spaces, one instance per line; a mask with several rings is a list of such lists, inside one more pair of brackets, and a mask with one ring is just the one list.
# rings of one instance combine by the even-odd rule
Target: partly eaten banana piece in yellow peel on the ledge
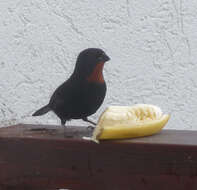
[[100,116],[92,140],[125,139],[153,135],[161,131],[170,118],[149,104],[110,106]]

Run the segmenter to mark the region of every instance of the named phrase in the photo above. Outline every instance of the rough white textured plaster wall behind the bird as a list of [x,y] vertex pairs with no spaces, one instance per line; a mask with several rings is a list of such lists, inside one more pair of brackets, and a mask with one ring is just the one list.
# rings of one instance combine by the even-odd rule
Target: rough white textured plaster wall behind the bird
[[59,123],[30,115],[87,47],[112,58],[93,119],[110,104],[151,103],[172,114],[169,128],[197,129],[196,0],[1,0],[0,125]]

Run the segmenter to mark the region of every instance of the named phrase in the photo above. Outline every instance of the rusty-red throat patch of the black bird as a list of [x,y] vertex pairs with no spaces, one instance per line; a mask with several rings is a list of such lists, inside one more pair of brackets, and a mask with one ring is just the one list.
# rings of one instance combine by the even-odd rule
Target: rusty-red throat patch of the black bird
[[92,73],[87,77],[88,82],[104,83],[103,66],[104,63],[99,63],[96,65]]

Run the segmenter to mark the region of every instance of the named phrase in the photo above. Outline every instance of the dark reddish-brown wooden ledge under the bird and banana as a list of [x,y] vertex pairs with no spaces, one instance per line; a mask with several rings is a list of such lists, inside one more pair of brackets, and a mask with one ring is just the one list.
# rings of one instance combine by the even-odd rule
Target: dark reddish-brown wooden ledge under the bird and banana
[[196,190],[197,131],[144,138],[83,140],[85,127],[0,129],[2,189]]

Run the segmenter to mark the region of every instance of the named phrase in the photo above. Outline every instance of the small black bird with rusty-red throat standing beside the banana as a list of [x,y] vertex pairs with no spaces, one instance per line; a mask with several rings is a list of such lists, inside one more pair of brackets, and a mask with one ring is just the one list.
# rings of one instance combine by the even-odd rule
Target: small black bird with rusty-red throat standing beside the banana
[[73,74],[51,96],[49,103],[33,116],[53,111],[65,125],[70,119],[82,119],[94,114],[103,103],[106,83],[103,78],[104,63],[110,58],[97,48],[83,50],[77,57]]

